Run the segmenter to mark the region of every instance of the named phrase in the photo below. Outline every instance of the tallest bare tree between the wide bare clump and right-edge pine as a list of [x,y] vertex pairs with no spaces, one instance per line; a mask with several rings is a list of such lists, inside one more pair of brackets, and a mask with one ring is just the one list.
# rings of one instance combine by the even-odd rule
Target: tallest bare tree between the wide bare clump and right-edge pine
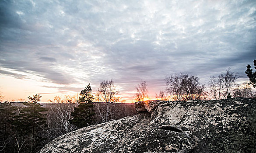
[[230,98],[231,97],[231,88],[235,87],[237,84],[235,83],[235,80],[237,80],[240,76],[238,76],[238,73],[231,72],[230,69],[226,70],[226,73],[221,73],[219,76],[221,77],[222,83],[223,83],[223,95],[224,98]]

